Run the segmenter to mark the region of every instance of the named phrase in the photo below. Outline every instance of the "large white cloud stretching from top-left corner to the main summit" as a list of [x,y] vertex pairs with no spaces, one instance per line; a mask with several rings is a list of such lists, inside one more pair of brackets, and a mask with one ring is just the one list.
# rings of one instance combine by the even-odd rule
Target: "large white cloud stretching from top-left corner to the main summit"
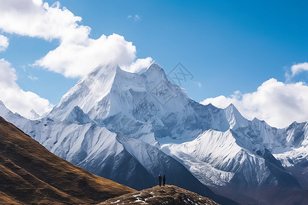
[[50,6],[40,0],[0,0],[0,5],[3,31],[60,40],[56,49],[35,63],[47,70],[66,77],[82,77],[101,64],[117,63],[127,67],[136,59],[136,47],[132,42],[117,34],[89,38],[90,27],[80,25],[81,17],[61,7],[59,2]]

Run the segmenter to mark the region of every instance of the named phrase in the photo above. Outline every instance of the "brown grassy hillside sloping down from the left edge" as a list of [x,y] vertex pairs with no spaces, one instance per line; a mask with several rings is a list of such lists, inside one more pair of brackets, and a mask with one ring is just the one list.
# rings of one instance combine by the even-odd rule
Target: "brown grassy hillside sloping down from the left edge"
[[55,156],[0,117],[0,203],[96,204],[133,191]]

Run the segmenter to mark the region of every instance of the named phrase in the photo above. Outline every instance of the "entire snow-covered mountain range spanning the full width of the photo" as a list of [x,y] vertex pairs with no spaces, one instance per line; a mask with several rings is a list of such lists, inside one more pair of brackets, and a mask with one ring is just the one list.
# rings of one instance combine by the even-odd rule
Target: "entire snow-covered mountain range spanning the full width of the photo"
[[246,120],[233,105],[201,105],[155,62],[140,74],[101,66],[38,120],[3,103],[0,115],[54,154],[137,189],[155,184],[162,172],[172,184],[201,195],[214,195],[206,184],[255,202],[251,190],[301,189],[294,174],[308,183],[307,122],[277,129]]

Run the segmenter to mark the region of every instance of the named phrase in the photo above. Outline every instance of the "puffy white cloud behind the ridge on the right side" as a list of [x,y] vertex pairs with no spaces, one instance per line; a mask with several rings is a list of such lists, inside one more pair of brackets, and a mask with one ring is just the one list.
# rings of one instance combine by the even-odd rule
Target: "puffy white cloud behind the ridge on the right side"
[[220,108],[233,103],[245,118],[265,120],[271,126],[283,128],[292,122],[308,120],[308,86],[306,83],[282,83],[269,79],[257,91],[217,98],[207,98],[203,105],[211,103]]

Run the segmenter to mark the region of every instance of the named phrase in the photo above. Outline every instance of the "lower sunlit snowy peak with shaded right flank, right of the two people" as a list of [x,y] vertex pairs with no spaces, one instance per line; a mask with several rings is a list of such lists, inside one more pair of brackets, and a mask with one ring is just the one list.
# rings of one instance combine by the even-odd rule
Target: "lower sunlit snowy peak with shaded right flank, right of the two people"
[[299,187],[292,174],[266,148],[256,145],[253,148],[256,152],[252,152],[248,149],[251,144],[245,148],[245,140],[235,136],[232,130],[220,132],[211,129],[193,141],[164,144],[162,150],[183,161],[198,180],[209,186],[233,184],[251,189],[281,184]]

